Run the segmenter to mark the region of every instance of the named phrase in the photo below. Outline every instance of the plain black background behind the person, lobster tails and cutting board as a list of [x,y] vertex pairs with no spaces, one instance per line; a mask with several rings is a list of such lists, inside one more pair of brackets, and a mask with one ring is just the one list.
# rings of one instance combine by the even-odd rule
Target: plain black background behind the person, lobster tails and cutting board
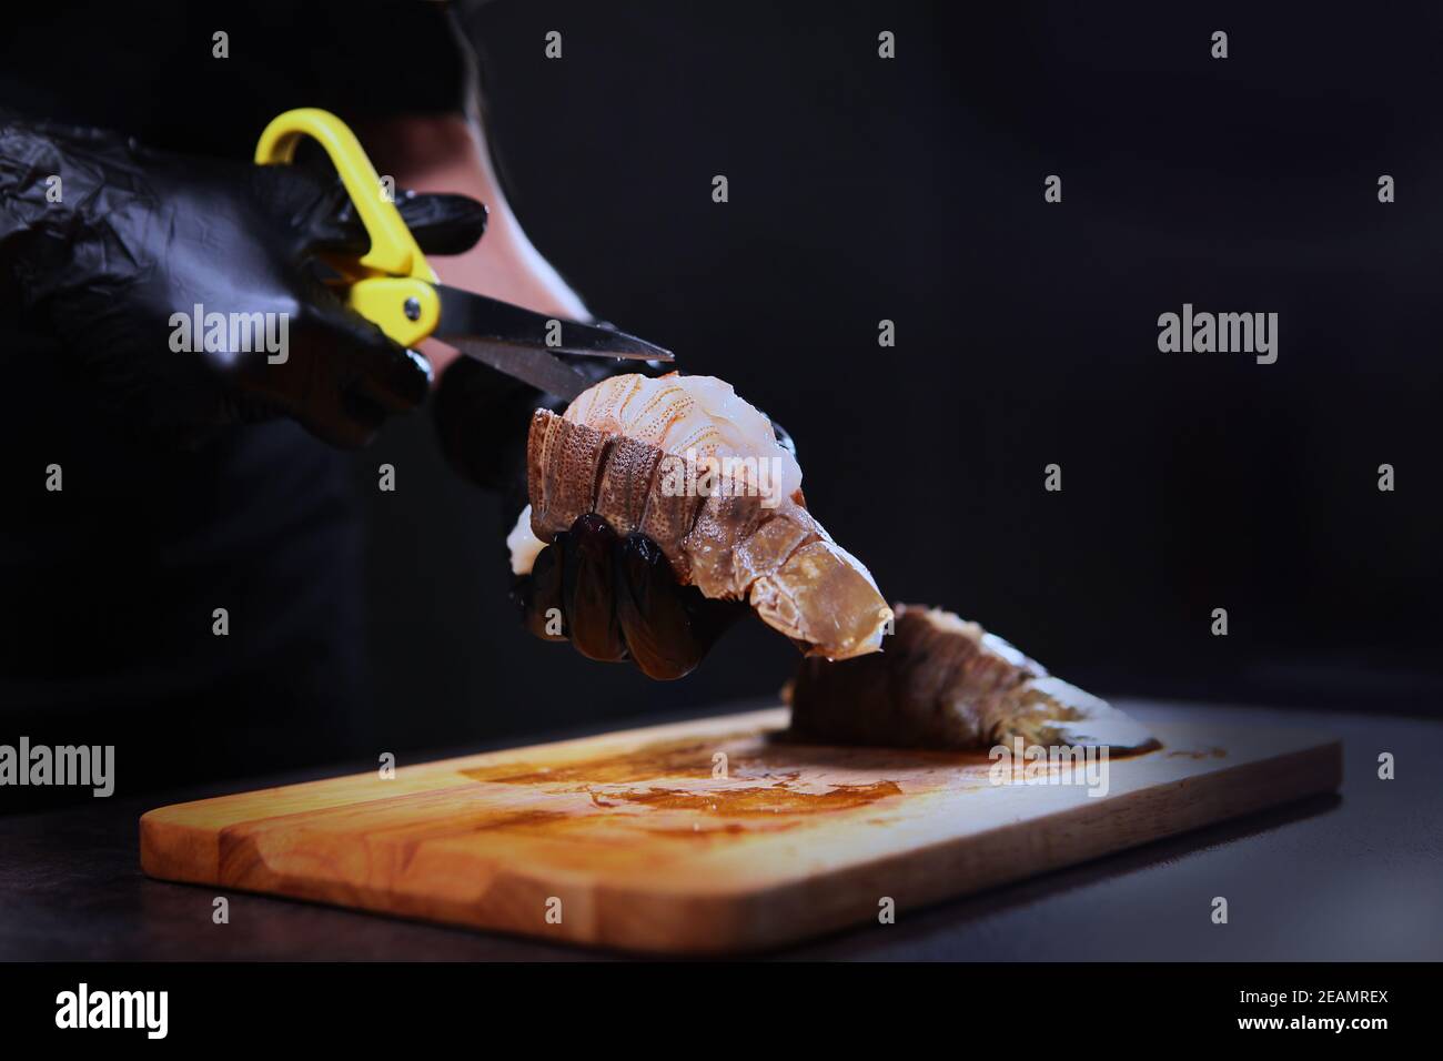
[[[810,505],[890,599],[1105,696],[1361,710],[1443,691],[1440,22],[949,3],[473,19],[535,244],[597,313],[784,423]],[[1160,354],[1157,315],[1183,302],[1277,312],[1277,364]],[[381,460],[405,476],[368,497],[378,700],[407,739],[766,696],[789,674],[760,624],[664,686],[522,637],[494,533],[511,514],[430,450],[413,422],[359,462],[368,488]]]

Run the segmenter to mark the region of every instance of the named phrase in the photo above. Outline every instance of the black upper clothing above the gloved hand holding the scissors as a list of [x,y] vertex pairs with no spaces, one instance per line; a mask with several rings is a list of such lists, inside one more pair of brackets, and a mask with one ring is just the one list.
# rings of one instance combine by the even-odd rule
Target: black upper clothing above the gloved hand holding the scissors
[[420,0],[48,3],[6,13],[0,105],[250,159],[293,107],[346,121],[459,110],[462,68],[444,7]]

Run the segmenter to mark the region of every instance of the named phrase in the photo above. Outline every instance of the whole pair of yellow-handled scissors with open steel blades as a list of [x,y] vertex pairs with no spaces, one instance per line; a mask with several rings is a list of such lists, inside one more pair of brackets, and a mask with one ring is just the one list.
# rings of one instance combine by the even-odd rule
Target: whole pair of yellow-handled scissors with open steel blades
[[371,250],[332,261],[345,302],[391,339],[414,348],[436,338],[462,354],[567,401],[592,385],[557,354],[672,361],[670,351],[610,328],[563,320],[440,283],[361,141],[335,114],[302,107],[277,115],[261,133],[255,162],[290,163],[303,137],[326,150],[361,215]]

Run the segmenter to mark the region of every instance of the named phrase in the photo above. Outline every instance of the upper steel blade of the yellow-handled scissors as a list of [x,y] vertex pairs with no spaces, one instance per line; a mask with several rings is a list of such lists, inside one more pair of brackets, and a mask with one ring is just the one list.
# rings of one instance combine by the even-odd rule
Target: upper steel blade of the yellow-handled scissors
[[465,336],[535,346],[554,354],[639,361],[674,359],[671,351],[626,332],[534,313],[460,287],[436,284],[436,292],[442,296],[442,323],[436,329],[436,338],[452,345],[456,345],[455,336]]

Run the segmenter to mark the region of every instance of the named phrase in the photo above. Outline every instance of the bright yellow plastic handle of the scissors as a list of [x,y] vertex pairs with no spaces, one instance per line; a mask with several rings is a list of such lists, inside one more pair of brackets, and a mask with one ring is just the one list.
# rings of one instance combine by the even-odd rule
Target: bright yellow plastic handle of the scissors
[[316,107],[286,111],[261,133],[257,165],[289,163],[303,136],[326,149],[371,237],[359,279],[346,289],[346,305],[403,346],[414,346],[440,325],[437,276],[346,123]]

